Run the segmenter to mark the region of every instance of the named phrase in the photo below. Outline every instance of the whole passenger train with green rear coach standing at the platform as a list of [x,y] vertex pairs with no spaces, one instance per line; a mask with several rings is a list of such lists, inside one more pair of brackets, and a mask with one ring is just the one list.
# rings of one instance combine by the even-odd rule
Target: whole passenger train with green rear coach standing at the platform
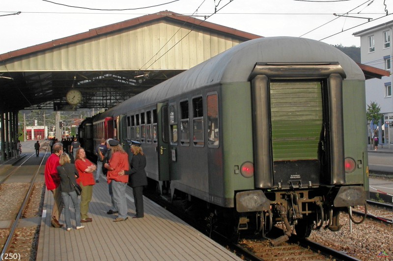
[[[368,197],[365,76],[335,47],[241,43],[86,122],[97,144],[138,140],[150,182],[236,232],[337,231]],[[93,144],[90,142],[89,144]],[[93,146],[86,148],[92,151]],[[348,211],[349,212],[349,211]],[[352,218],[352,217],[351,217]]]

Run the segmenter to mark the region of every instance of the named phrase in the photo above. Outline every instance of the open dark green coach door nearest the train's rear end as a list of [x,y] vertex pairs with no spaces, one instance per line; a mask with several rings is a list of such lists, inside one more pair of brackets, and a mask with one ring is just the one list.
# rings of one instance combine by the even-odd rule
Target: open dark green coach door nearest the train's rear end
[[157,104],[158,180],[169,180],[168,103]]

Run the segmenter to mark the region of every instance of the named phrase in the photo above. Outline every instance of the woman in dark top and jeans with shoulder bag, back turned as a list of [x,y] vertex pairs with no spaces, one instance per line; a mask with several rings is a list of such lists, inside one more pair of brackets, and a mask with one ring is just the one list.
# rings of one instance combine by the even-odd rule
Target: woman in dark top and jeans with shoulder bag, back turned
[[74,185],[77,183],[75,165],[70,164],[71,159],[68,154],[63,153],[60,155],[59,166],[57,166],[57,172],[60,177],[60,191],[61,198],[64,203],[64,219],[67,231],[71,231],[71,211],[70,211],[70,199],[75,210],[75,225],[76,229],[83,229],[81,225],[81,209],[79,207],[79,199],[77,192],[75,191]]

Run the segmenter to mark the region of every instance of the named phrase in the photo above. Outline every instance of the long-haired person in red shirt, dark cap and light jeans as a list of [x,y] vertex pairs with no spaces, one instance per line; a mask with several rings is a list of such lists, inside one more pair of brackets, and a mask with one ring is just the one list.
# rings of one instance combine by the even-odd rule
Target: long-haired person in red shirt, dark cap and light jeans
[[113,200],[117,205],[119,211],[118,216],[113,222],[125,221],[127,217],[127,198],[126,187],[128,183],[128,176],[119,175],[121,170],[129,170],[128,155],[120,146],[117,140],[110,140],[112,156],[108,163],[105,163],[105,168],[108,169],[107,181],[112,183]]

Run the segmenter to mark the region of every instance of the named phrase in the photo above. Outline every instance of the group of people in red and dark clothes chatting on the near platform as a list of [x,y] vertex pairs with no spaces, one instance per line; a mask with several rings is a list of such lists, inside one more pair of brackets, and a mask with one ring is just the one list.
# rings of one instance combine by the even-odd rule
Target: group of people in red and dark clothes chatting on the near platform
[[[77,145],[77,144],[76,144]],[[100,175],[106,174],[109,194],[111,196],[111,209],[107,214],[118,214],[114,222],[128,219],[126,187],[130,183],[133,188],[136,215],[133,218],[143,217],[143,186],[147,185],[146,157],[143,154],[140,142],[132,141],[131,154],[128,155],[115,139],[102,139],[97,146],[97,165],[86,158],[84,149],[78,145],[75,150],[75,163],[67,153],[63,153],[62,143],[53,145],[53,153],[45,165],[45,183],[54,197],[51,224],[56,228],[63,225],[58,222],[64,208],[64,219],[67,231],[72,229],[70,202],[75,210],[76,229],[83,229],[82,223],[92,222],[88,216],[88,207],[93,194],[93,185],[99,182]],[[79,203],[75,185],[82,188]]]

